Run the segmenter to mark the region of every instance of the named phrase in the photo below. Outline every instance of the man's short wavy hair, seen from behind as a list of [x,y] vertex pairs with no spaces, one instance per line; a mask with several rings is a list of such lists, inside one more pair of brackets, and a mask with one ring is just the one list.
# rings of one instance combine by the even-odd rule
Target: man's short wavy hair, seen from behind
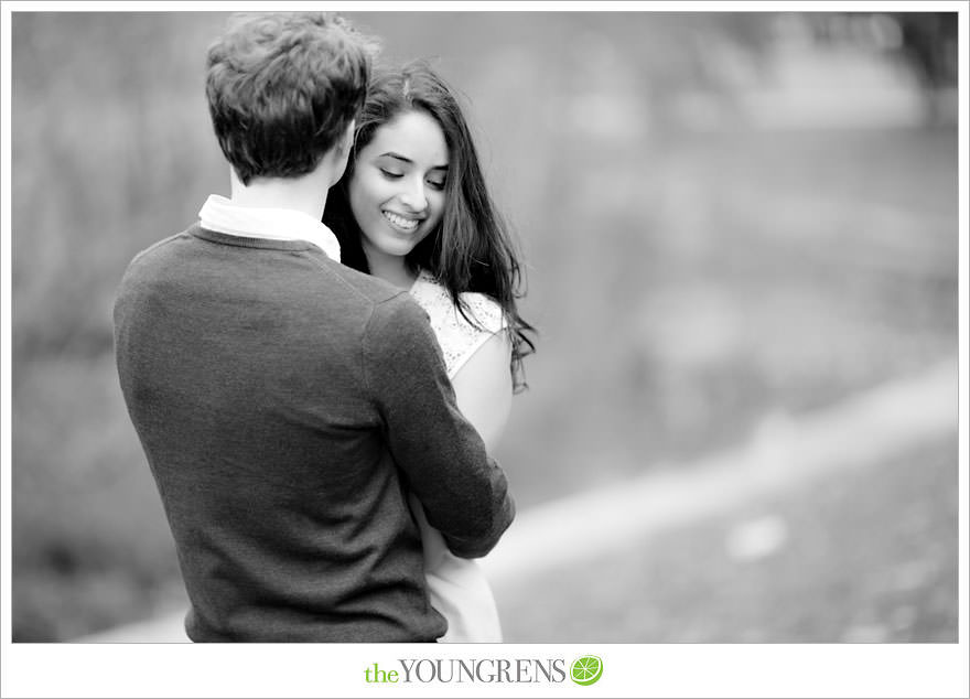
[[209,46],[205,94],[242,184],[312,172],[360,110],[376,52],[337,15],[234,15]]

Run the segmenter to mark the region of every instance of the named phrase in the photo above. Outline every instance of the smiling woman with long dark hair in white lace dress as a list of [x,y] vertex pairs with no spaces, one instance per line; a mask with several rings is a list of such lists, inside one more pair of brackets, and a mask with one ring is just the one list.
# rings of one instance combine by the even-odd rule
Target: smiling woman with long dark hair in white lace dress
[[[341,258],[410,291],[428,312],[459,409],[491,451],[525,387],[534,329],[518,313],[519,262],[485,187],[461,108],[425,64],[378,72],[357,121],[347,170],[327,197],[324,223]],[[414,514],[431,603],[446,642],[502,641],[481,569],[453,556]]]

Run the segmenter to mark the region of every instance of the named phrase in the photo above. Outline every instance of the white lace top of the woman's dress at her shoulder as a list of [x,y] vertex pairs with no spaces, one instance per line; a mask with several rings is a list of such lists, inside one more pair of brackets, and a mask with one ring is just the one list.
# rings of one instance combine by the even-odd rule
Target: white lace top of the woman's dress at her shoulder
[[466,291],[461,294],[465,313],[476,321],[476,327],[464,319],[451,302],[451,297],[429,272],[421,270],[411,295],[424,309],[431,321],[431,330],[441,345],[448,377],[454,378],[465,362],[494,334],[505,330],[508,324],[502,307],[484,293]]

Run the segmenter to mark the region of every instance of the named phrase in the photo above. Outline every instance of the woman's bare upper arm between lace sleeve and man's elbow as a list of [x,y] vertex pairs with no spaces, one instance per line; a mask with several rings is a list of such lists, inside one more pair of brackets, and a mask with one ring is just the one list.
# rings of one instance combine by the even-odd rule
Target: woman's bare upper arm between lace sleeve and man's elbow
[[459,410],[478,431],[488,453],[502,437],[511,410],[510,359],[508,332],[496,333],[452,379]]

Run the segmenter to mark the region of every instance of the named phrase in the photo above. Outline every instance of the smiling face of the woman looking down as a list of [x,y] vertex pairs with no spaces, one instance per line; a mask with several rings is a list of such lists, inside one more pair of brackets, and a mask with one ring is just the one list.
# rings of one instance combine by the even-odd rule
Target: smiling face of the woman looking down
[[441,221],[448,157],[441,127],[423,111],[378,127],[357,153],[351,211],[371,267],[374,256],[403,258]]

